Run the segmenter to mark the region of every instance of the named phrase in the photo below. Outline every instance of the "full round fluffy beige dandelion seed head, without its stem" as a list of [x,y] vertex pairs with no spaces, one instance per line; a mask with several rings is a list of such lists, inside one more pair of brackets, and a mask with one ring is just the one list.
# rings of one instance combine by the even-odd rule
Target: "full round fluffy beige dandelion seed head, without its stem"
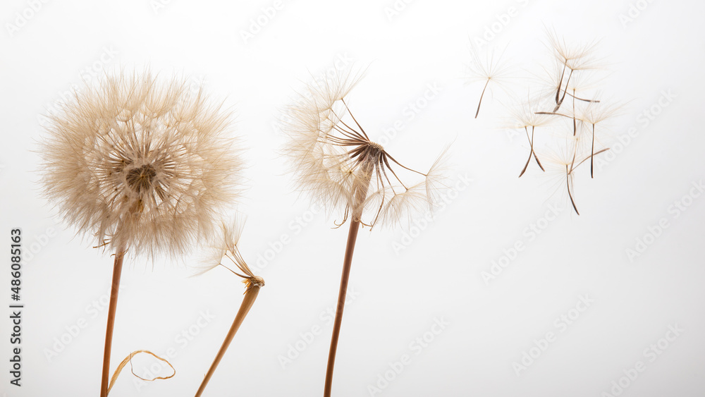
[[98,245],[188,252],[238,197],[229,114],[183,81],[106,76],[61,110],[42,142],[44,191]]

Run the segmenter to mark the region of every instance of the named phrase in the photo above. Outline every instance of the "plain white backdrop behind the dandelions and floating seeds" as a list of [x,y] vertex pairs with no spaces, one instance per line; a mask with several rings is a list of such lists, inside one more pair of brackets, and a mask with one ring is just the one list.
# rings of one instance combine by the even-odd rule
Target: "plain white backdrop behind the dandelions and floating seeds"
[[[319,395],[331,333],[326,310],[336,302],[347,228],[331,229],[339,215],[318,211],[296,192],[276,152],[286,145],[276,121],[312,75],[345,62],[369,65],[350,102],[373,138],[384,140],[385,129],[402,121],[385,148],[419,169],[455,140],[449,176],[472,182],[448,196],[434,221],[360,233],[350,278],[356,295],[345,310],[334,395],[605,396],[637,361],[645,369],[621,380],[623,396],[705,393],[699,248],[705,197],[691,195],[698,193],[692,183],[705,176],[705,135],[697,121],[704,92],[701,2],[640,1],[642,10],[635,8],[635,18],[623,23],[620,15],[628,16],[637,2],[397,1],[398,15],[391,15],[391,0],[281,0],[278,10],[272,1],[157,1],[11,0],[1,6],[0,235],[6,238],[0,240],[9,245],[10,229],[20,227],[28,253],[23,386],[9,384],[5,311],[0,396],[98,394],[107,312],[99,301],[109,293],[111,252],[90,248],[42,200],[32,150],[42,139],[40,115],[82,80],[145,66],[166,78],[203,83],[224,99],[248,147],[241,251],[266,286],[205,395]],[[515,16],[498,25],[510,7]],[[501,90],[487,94],[473,118],[482,83],[467,84],[465,65],[470,43],[493,23],[495,37],[486,36],[484,49],[508,46],[519,77],[540,72],[550,59],[544,26],[568,43],[601,39],[597,52],[606,73],[596,92],[625,106],[601,135],[613,146],[611,161],[594,179],[581,173],[575,181],[580,216],[568,207],[560,178],[530,164],[517,179],[528,145],[503,128]],[[254,37],[244,38],[248,31]],[[518,79],[509,88],[525,95],[535,80]],[[441,91],[419,102],[424,107],[410,120],[407,106],[429,85]],[[668,106],[659,107],[663,92],[673,99],[661,99]],[[652,106],[661,112],[649,120],[644,111]],[[616,153],[630,128],[635,136]],[[690,205],[676,218],[671,206],[680,200]],[[546,222],[550,206],[560,212]],[[647,237],[652,243],[630,260],[627,249],[664,218],[668,228]],[[302,228],[295,226],[299,219],[305,219]],[[526,228],[539,223],[545,228],[529,238]],[[415,238],[395,250],[405,233]],[[282,236],[287,244],[277,243]],[[517,241],[525,250],[485,283],[482,272]],[[133,350],[164,355],[173,348],[177,373],[139,384],[123,372],[111,396],[195,393],[243,293],[240,279],[225,269],[189,278],[187,265],[197,260],[126,264],[112,367]],[[8,267],[0,272],[3,305],[11,304]],[[571,311],[585,308],[581,296],[593,302]],[[90,308],[94,303],[99,310]],[[213,318],[200,319],[202,313]],[[579,315],[568,325],[563,314]],[[448,324],[429,334],[436,320]],[[78,322],[86,326],[76,333]],[[668,347],[660,354],[649,353],[669,326],[682,329],[680,336],[661,341]],[[309,338],[316,327],[321,334]],[[548,332],[555,340],[517,376],[513,363]],[[418,348],[415,340],[424,336],[432,341]],[[59,343],[62,337],[68,344]],[[296,346],[305,349],[295,355]],[[50,350],[61,351],[47,358]],[[405,354],[410,363],[392,377],[389,363]],[[286,357],[291,362],[283,362]],[[135,371],[144,374],[153,362],[136,359]],[[386,383],[380,381],[385,373],[393,378]]]

